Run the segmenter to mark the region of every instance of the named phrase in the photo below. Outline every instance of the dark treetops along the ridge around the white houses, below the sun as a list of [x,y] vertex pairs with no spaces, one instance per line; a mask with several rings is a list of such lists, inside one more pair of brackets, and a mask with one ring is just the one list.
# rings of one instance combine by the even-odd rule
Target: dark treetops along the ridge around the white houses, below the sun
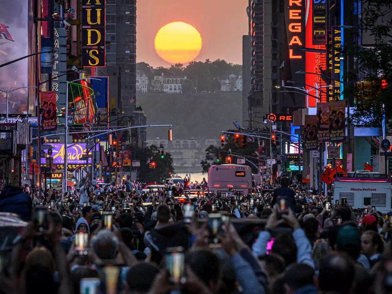
[[217,59],[205,62],[192,61],[186,67],[183,64],[175,64],[171,67],[157,67],[154,69],[145,62],[138,62],[136,70],[142,71],[150,79],[154,79],[154,75],[164,74],[165,76],[186,76],[190,81],[189,87],[185,89],[194,89],[197,83],[198,92],[218,92],[221,89],[220,80],[225,80],[234,73],[237,77],[242,71],[242,65],[227,63],[225,60]]

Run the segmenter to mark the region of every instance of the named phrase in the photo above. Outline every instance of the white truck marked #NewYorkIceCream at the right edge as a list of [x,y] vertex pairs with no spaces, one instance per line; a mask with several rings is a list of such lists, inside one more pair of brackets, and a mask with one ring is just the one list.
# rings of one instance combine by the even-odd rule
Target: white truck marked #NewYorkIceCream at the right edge
[[384,215],[391,211],[391,180],[379,172],[348,172],[335,179],[333,196],[334,203],[345,198],[352,208],[372,206]]

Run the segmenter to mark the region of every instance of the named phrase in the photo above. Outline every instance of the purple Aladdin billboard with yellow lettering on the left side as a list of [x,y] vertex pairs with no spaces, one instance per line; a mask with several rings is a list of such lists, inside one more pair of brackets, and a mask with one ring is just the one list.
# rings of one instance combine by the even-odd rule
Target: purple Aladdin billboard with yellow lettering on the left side
[[[54,148],[52,148],[52,158],[53,158],[53,164],[64,164],[64,144],[51,144]],[[71,146],[73,144],[68,144],[68,146]],[[43,145],[42,150],[45,151],[47,154],[48,148]],[[86,154],[86,144],[85,143],[79,143],[75,144],[72,147],[68,147],[68,164],[86,164],[85,160],[81,160],[83,157],[83,154]],[[99,151],[99,145],[96,145],[96,151]],[[91,154],[89,152],[88,154]],[[91,163],[91,158],[88,158],[89,163]],[[46,163],[46,158],[41,157],[41,164]]]

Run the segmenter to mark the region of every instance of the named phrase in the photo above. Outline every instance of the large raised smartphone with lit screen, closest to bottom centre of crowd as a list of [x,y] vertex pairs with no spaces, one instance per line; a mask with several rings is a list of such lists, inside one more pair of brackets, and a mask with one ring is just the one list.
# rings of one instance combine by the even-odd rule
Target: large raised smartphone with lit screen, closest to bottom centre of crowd
[[184,277],[185,255],[183,247],[171,247],[166,249],[165,266],[169,272],[169,281],[179,284]]

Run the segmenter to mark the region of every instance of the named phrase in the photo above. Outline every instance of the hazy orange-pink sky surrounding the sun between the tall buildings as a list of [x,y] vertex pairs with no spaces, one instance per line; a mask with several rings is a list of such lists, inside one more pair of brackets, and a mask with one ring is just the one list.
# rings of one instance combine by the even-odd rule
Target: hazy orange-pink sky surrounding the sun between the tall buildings
[[154,39],[171,22],[194,26],[203,40],[196,61],[224,59],[242,64],[242,36],[248,33],[248,0],[139,0],[136,4],[136,61],[169,64],[155,52]]

